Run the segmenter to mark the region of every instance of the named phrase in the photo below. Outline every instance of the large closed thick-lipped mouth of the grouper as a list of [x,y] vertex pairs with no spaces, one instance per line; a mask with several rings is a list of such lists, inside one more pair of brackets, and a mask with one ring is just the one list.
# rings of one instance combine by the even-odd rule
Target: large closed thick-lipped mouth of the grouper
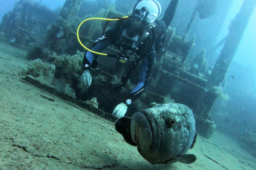
[[133,142],[141,147],[149,147],[152,150],[160,148],[160,129],[150,110],[144,109],[132,116],[131,134]]

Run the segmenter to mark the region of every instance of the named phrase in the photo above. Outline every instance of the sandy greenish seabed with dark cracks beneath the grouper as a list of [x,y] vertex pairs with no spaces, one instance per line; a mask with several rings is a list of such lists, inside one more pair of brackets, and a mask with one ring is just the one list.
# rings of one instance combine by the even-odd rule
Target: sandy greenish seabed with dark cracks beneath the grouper
[[195,163],[152,165],[113,122],[22,80],[26,54],[0,42],[0,169],[256,169],[255,158],[218,131],[198,136],[188,151]]

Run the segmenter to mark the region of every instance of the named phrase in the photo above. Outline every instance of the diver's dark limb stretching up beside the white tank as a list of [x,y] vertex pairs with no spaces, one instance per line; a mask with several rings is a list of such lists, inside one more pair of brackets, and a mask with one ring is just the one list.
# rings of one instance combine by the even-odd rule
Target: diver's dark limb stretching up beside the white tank
[[179,0],[172,0],[170,1],[169,6],[167,7],[163,18],[161,19],[161,21],[163,21],[165,23],[165,29],[167,29],[170,25],[170,22],[172,22],[177,6],[178,6]]

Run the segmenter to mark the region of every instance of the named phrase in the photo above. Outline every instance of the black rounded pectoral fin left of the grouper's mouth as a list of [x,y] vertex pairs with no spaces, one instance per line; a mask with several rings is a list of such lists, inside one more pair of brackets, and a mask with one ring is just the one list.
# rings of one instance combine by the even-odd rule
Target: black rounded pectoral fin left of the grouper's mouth
[[136,147],[136,144],[133,142],[131,135],[131,118],[130,117],[121,117],[115,122],[116,131],[119,132],[126,143]]

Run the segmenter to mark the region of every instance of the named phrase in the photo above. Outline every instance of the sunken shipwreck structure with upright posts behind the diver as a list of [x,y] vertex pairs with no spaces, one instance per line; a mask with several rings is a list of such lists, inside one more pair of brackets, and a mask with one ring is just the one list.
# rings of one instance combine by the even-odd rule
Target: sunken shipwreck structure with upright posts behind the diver
[[[40,58],[42,62],[50,63],[49,67],[52,70],[54,69],[52,79],[60,79],[60,77],[67,79],[65,83],[68,83],[74,90],[77,100],[87,101],[97,98],[97,107],[111,113],[116,104],[123,100],[122,98],[127,94],[127,91],[131,90],[133,84],[136,83],[138,71],[135,71],[130,83],[116,92],[114,88],[119,85],[120,78],[129,63],[121,65],[117,72],[115,58],[99,56],[98,68],[91,72],[94,81],[86,91],[83,91],[77,87],[81,66],[80,69],[77,67],[76,70],[69,70],[75,71],[73,77],[68,73],[65,77],[63,69],[67,68],[63,67],[65,65],[63,62],[70,62],[71,59],[66,60],[65,56],[62,57],[63,59],[56,57],[56,55],[69,54],[71,55],[69,57],[72,58],[74,57],[72,55],[77,55],[77,51],[84,52],[76,38],[76,29],[82,20],[90,17],[113,18],[126,16],[115,11],[114,4],[110,4],[108,1],[97,1],[98,5],[106,4],[108,6],[105,9],[100,9],[95,15],[80,18],[77,13],[80,6],[82,4],[84,6],[85,2],[82,0],[67,0],[62,9],[56,12],[41,6],[39,3],[20,1],[12,12],[5,15],[0,25],[0,31],[5,33],[5,37],[11,44],[29,48],[28,59]],[[202,3],[203,1],[199,2]],[[191,23],[189,23],[190,25],[188,25],[183,37],[175,34],[175,28],[169,27],[164,42],[166,50],[161,54],[160,60],[155,61],[154,64],[154,79],[148,85],[147,91],[134,105],[129,107],[128,112],[135,113],[147,107],[151,102],[163,103],[166,100],[173,100],[193,110],[197,132],[203,137],[209,138],[215,130],[210,110],[216,98],[223,95],[221,89],[227,68],[237,50],[254,6],[255,1],[244,1],[241,11],[231,23],[229,35],[224,41],[224,47],[215,66],[207,65],[207,59],[205,59],[207,52],[204,49],[198,52],[194,61],[187,59],[196,39],[196,36],[190,39],[187,39],[186,36]],[[196,12],[200,9],[199,7],[197,6],[195,9]],[[33,10],[31,10],[32,8]],[[57,15],[57,13],[59,14]],[[190,22],[195,17],[194,13],[193,15]],[[103,20],[84,23],[79,32],[82,43],[91,46],[94,40],[101,36],[104,26],[105,21]],[[114,23],[110,22],[108,26],[108,28],[113,27]],[[104,52],[107,54],[117,53],[114,47],[108,47]],[[50,57],[53,54],[55,57]],[[81,64],[82,54],[79,53],[77,58],[77,64],[79,65]],[[130,63],[132,59],[130,59]],[[56,84],[58,83],[55,81]],[[58,86],[60,85],[58,84]]]

